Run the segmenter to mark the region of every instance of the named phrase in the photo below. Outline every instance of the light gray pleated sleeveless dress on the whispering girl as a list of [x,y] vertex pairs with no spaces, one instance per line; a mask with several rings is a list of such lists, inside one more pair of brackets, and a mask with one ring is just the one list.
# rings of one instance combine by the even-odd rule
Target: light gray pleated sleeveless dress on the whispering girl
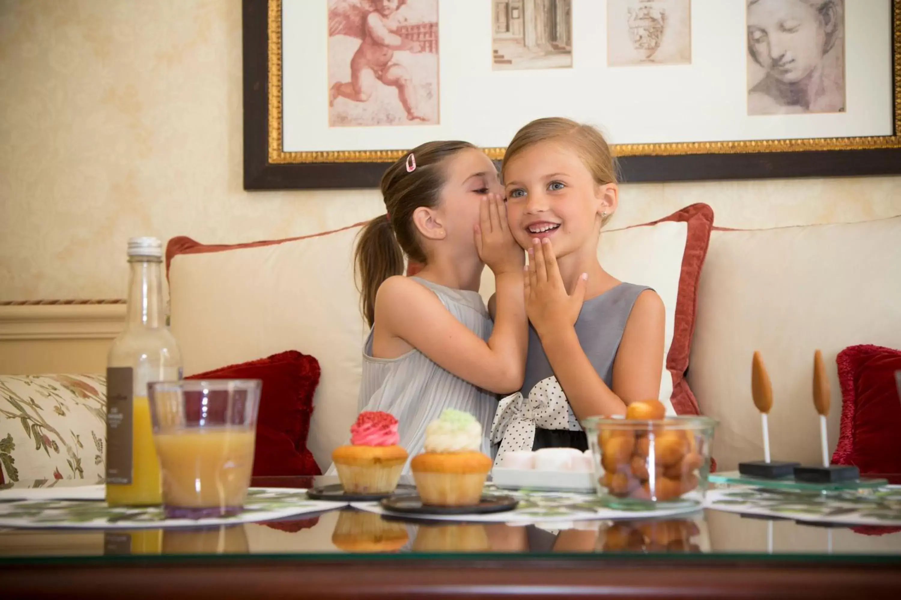
[[[477,291],[453,290],[419,277],[412,279],[432,290],[444,308],[471,332],[483,340],[491,336],[491,317]],[[396,417],[400,445],[410,460],[423,452],[425,425],[438,418],[442,410],[466,411],[482,425],[482,452],[491,455],[487,435],[497,407],[496,395],[445,371],[416,349],[397,358],[374,357],[372,332],[363,348],[358,407],[359,411],[381,410]],[[404,472],[409,468],[408,460]]]

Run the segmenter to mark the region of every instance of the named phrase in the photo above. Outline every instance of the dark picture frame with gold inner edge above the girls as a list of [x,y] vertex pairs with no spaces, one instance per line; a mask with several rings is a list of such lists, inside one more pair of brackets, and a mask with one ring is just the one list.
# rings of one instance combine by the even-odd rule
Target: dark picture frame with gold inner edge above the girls
[[[385,164],[404,156],[406,150],[284,151],[282,0],[243,1],[245,188],[366,187],[376,184]],[[892,135],[614,145],[614,153],[623,165],[624,178],[671,181],[901,173],[901,0],[892,0],[891,22]],[[261,40],[265,43],[260,44]],[[259,72],[261,64],[265,76]],[[260,85],[264,81],[265,85]],[[265,126],[265,132],[260,131],[261,125]],[[265,138],[265,148],[259,148],[260,138]],[[505,148],[485,148],[493,160],[501,160],[504,151]],[[774,163],[777,156],[779,165]],[[667,158],[678,160],[667,164]],[[626,164],[630,167],[625,168]],[[698,167],[694,171],[690,168],[693,165]],[[704,168],[700,168],[702,165]],[[336,168],[339,166],[345,168]],[[348,170],[352,166],[362,168]]]

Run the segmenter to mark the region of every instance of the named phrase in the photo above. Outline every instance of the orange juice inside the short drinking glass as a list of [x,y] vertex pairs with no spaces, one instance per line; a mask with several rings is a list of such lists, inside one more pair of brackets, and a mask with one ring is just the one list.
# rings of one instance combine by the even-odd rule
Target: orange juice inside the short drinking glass
[[163,475],[164,505],[217,507],[223,514],[244,506],[253,469],[253,430],[194,427],[159,433],[154,439]]

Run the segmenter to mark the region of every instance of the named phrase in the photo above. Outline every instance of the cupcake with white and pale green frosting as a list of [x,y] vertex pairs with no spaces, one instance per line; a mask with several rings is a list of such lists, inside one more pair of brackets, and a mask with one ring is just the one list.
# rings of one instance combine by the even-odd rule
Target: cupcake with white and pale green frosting
[[426,426],[425,452],[410,462],[423,504],[477,505],[491,470],[481,447],[482,425],[469,413],[445,408]]

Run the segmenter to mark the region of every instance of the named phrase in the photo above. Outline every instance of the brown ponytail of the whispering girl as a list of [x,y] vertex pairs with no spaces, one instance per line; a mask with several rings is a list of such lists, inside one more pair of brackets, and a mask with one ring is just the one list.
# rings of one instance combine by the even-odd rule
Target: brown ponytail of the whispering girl
[[354,262],[360,282],[363,315],[369,327],[376,320],[376,292],[388,277],[404,273],[404,253],[387,214],[369,221],[359,233]]

